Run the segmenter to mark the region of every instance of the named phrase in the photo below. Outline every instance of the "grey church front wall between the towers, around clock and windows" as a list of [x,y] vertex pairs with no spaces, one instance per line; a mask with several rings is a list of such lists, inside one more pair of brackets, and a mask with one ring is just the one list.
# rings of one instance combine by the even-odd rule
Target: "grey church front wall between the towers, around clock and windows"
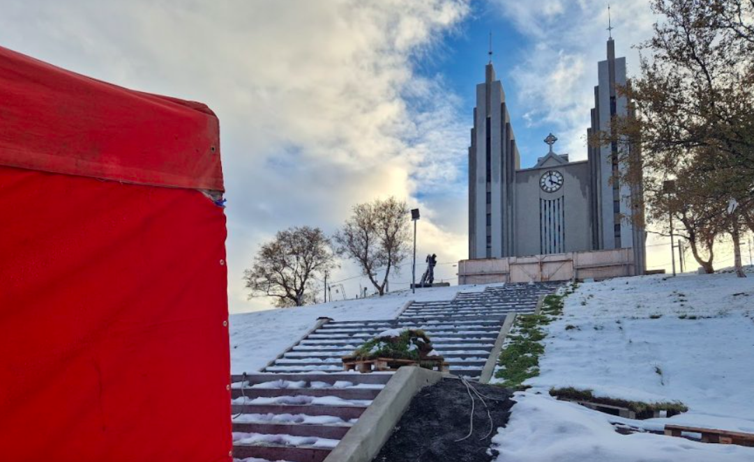
[[[516,249],[515,255],[538,255],[542,250],[541,199],[557,200],[562,197],[564,231],[561,252],[591,250],[590,233],[590,166],[588,162],[572,162],[516,172]],[[539,180],[548,170],[563,176],[562,187],[553,193],[542,191]],[[559,207],[559,206],[558,206]],[[545,236],[547,237],[547,236]]]

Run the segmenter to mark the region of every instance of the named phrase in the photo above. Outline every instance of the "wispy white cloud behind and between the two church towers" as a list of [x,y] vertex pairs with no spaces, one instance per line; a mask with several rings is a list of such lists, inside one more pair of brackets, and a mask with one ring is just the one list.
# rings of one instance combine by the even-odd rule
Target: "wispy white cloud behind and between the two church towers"
[[[529,40],[526,59],[510,69],[521,92],[529,127],[559,138],[559,151],[573,160],[587,157],[586,133],[597,84],[597,62],[605,60],[607,2],[596,0],[489,0]],[[651,35],[648,0],[612,5],[616,54],[627,57],[629,75],[639,72],[631,47]]]

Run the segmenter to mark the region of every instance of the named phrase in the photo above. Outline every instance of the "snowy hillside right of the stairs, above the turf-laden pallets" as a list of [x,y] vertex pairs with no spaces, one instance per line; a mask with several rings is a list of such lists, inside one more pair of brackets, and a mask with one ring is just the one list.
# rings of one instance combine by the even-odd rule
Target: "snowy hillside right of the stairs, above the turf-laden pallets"
[[674,424],[709,421],[754,433],[754,277],[584,283],[566,298],[564,314],[547,327],[541,373],[527,384],[679,400],[689,412]]

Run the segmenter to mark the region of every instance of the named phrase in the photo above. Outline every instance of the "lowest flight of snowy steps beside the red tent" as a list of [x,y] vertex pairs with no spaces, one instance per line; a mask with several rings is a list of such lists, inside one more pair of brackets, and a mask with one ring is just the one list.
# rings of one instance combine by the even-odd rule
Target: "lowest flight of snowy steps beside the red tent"
[[232,378],[233,457],[321,462],[392,374],[253,374]]

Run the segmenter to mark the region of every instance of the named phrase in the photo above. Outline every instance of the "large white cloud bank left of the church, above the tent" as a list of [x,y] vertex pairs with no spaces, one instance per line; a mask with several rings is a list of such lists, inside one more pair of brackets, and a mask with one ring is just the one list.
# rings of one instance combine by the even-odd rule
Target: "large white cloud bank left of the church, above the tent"
[[[465,0],[6,1],[0,40],[219,115],[228,291],[241,311],[266,304],[245,301],[241,281],[262,240],[290,225],[333,231],[354,203],[375,197],[430,192],[420,255],[465,256],[465,209],[440,227],[431,217],[458,194],[443,185],[457,181],[467,127],[442,79],[416,75],[412,60],[468,9]],[[346,265],[342,276],[354,271]]]

